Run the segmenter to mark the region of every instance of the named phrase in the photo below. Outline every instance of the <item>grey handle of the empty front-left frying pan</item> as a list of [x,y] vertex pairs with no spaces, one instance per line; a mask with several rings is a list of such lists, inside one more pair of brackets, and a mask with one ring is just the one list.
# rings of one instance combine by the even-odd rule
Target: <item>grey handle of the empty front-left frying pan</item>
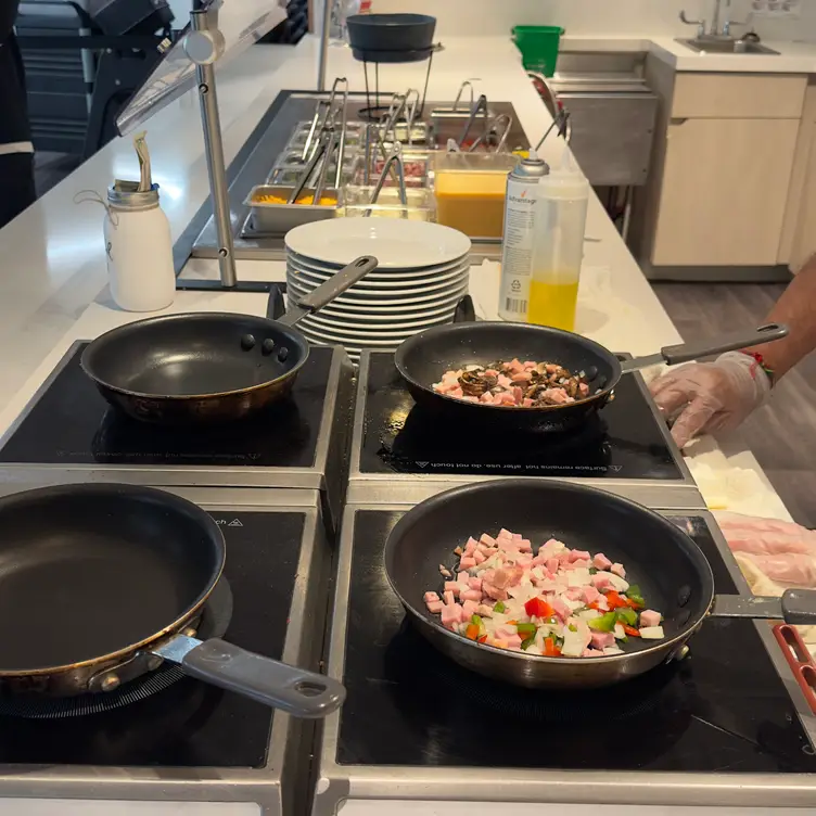
[[296,717],[316,719],[336,711],[345,688],[321,674],[290,666],[218,638],[178,635],[151,650],[181,666],[184,674],[243,694]]

